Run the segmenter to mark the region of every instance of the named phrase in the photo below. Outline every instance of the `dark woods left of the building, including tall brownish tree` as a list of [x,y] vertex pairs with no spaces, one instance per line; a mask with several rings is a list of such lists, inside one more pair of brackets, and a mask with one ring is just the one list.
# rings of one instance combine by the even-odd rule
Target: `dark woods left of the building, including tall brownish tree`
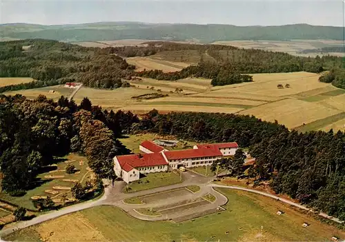
[[0,97],[1,188],[23,194],[39,181],[37,174],[69,152],[83,154],[100,177],[114,177],[112,158],[129,154],[117,138],[139,120],[130,112],[108,112],[87,98],[80,105],[19,94]]

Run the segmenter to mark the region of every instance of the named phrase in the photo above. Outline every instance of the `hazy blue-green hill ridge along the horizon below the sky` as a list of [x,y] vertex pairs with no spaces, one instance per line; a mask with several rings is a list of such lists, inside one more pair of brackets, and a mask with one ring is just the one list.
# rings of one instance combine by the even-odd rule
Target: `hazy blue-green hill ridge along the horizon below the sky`
[[226,24],[98,22],[44,26],[31,23],[0,25],[1,39],[55,39],[58,41],[111,41],[147,39],[201,43],[233,40],[333,39],[343,40],[343,28],[311,26],[306,23],[285,26],[233,26]]

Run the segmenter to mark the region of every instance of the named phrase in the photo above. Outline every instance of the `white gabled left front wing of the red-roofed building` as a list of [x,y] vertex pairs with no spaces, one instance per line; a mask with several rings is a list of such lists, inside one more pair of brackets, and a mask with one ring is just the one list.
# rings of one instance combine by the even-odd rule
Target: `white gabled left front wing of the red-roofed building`
[[126,183],[138,180],[140,173],[168,171],[168,162],[161,153],[119,155],[113,160],[115,174]]

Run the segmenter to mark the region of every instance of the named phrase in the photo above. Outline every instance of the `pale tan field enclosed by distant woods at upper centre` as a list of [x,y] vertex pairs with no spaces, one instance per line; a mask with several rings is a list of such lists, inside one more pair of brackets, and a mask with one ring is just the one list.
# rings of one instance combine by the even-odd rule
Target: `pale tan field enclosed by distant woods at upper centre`
[[130,57],[126,61],[137,67],[137,71],[146,70],[162,70],[163,72],[177,72],[186,68],[189,64],[184,62],[163,61],[152,59],[150,57]]

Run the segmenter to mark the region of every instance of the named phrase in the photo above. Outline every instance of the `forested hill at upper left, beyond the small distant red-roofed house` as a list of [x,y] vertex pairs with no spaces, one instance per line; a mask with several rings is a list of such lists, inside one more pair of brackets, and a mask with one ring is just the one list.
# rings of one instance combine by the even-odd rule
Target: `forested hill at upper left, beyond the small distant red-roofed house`
[[0,42],[0,77],[38,81],[1,88],[0,92],[80,82],[92,88],[118,88],[135,69],[114,54],[47,40]]

